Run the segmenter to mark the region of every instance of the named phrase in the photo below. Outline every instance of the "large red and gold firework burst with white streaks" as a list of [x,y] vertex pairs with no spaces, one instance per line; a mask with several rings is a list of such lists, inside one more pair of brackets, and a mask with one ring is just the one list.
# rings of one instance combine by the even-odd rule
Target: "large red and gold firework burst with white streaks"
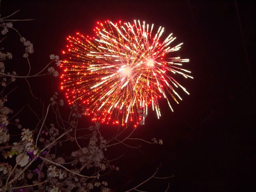
[[161,42],[164,28],[153,33],[153,26],[139,20],[106,21],[98,22],[95,38],[69,36],[63,52],[68,58],[61,64],[61,89],[66,90],[68,103],[84,104],[92,120],[122,125],[131,121],[134,126],[144,123],[148,108],[161,116],[162,97],[172,110],[169,98],[182,100],[176,89],[189,94],[172,74],[192,78],[180,67],[189,59],[170,57],[182,43],[170,46],[176,39],[172,34]]

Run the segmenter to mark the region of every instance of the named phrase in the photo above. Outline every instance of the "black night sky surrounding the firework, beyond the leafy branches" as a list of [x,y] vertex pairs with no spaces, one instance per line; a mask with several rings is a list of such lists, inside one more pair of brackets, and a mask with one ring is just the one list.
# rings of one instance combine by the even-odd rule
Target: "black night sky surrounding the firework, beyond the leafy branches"
[[[176,42],[184,42],[177,54],[190,58],[186,68],[194,80],[178,79],[190,96],[182,94],[183,101],[173,104],[174,113],[161,102],[160,120],[150,112],[135,136],[162,138],[164,145],[143,144],[143,154],[124,148],[126,156],[117,162],[123,172],[111,183],[122,191],[161,163],[159,176],[174,178],[152,180],[145,189],[158,192],[170,182],[172,192],[248,192],[256,190],[256,2],[238,1],[237,8],[238,12],[235,1],[2,0],[1,16],[20,10],[13,18],[35,19],[14,24],[34,44],[33,72],[48,62],[50,54],[61,55],[68,35],[92,35],[97,21],[140,19],[164,26],[165,35],[172,32]],[[58,78],[32,82],[32,88],[45,100],[55,90],[63,94]],[[90,125],[86,117],[84,121]]]

